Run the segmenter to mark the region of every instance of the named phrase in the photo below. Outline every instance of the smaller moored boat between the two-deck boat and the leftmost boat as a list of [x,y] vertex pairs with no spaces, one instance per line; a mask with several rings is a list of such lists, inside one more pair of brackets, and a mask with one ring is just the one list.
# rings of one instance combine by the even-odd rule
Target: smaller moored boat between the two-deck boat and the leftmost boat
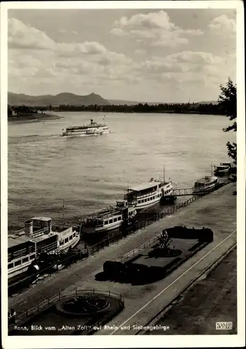
[[128,207],[126,200],[120,200],[116,202],[116,207],[106,207],[87,216],[82,221],[81,231],[85,234],[107,232],[119,228],[123,221],[130,221],[136,214],[134,207]]

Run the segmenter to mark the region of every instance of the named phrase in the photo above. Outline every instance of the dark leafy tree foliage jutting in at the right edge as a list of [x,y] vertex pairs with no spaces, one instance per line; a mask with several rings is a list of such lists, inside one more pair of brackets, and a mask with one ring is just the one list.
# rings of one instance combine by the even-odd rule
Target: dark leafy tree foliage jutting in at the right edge
[[[222,114],[229,117],[230,120],[234,120],[237,117],[237,88],[236,84],[233,85],[231,78],[228,78],[226,82],[226,87],[220,85],[221,94],[218,98],[218,107],[220,108]],[[223,128],[224,132],[237,131],[237,123],[233,122],[232,125]],[[228,149],[228,155],[233,159],[233,162],[237,162],[237,144],[235,142],[226,143]]]

